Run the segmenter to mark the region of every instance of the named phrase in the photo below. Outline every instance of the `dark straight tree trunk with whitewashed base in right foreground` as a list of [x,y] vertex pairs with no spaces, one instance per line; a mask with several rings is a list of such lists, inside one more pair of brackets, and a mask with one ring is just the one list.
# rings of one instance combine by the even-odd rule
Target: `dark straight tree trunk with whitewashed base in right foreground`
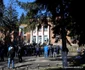
[[66,30],[65,30],[65,27],[61,28],[61,36],[62,36],[62,64],[63,64],[63,67],[67,67],[68,66],[68,63],[67,63],[68,49],[66,47]]

